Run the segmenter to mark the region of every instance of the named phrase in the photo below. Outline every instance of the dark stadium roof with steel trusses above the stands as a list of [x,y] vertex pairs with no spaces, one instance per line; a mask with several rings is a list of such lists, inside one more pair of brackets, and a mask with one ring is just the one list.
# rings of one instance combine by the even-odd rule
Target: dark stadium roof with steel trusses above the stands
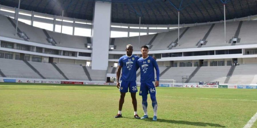
[[[191,24],[257,15],[257,0],[100,0],[112,1],[112,22],[139,24]],[[0,4],[18,7],[18,0],[1,0]],[[21,9],[93,20],[95,0],[21,0]]]

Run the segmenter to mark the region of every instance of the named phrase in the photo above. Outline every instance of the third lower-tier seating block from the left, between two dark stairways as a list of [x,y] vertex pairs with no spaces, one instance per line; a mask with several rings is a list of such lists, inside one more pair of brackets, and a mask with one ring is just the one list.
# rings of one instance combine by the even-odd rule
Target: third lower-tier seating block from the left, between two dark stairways
[[81,65],[62,63],[57,63],[56,65],[69,80],[88,80],[88,77]]

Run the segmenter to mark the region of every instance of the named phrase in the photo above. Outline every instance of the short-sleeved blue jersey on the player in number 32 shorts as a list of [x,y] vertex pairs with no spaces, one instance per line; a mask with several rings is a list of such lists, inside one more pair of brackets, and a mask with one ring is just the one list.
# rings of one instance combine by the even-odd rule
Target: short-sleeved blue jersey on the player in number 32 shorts
[[122,56],[119,59],[119,66],[122,67],[121,80],[122,81],[136,81],[136,61],[139,59],[136,55]]

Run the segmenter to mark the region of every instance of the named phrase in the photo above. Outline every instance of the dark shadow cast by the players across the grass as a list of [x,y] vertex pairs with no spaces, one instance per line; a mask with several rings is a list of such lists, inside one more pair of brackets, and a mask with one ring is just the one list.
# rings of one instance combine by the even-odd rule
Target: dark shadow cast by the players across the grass
[[[125,118],[130,118],[130,117],[125,117]],[[135,119],[135,118],[131,118]],[[148,119],[142,119],[143,121],[151,121],[152,118]],[[167,120],[167,119],[157,119],[157,122],[165,122],[165,123],[174,123],[174,124],[185,124],[185,125],[193,125],[193,126],[202,126],[202,127],[226,127],[220,124],[216,123],[204,123],[204,122],[190,122],[190,121],[183,121],[183,120]]]

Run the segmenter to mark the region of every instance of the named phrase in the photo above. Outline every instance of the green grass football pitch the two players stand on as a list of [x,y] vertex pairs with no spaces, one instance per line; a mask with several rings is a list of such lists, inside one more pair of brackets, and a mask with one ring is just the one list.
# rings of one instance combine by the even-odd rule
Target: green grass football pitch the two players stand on
[[[257,112],[257,89],[158,87],[156,92],[154,122],[150,96],[149,118],[135,119],[130,93],[123,118],[114,118],[120,96],[116,86],[0,83],[0,127],[242,128]],[[140,117],[141,102],[137,93]]]

